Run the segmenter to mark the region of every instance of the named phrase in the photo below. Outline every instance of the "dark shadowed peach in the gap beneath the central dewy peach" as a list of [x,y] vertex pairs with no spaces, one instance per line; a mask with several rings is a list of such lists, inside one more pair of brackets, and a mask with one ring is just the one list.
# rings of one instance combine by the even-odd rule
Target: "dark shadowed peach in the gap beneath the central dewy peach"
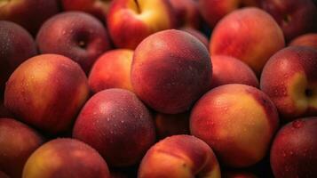
[[158,139],[176,134],[189,134],[189,112],[155,115],[155,128]]

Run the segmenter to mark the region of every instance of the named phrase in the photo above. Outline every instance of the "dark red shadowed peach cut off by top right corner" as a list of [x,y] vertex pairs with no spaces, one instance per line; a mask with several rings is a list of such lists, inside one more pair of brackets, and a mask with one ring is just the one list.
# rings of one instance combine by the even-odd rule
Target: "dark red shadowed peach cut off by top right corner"
[[265,0],[261,8],[277,21],[286,41],[317,32],[317,7],[312,0]]

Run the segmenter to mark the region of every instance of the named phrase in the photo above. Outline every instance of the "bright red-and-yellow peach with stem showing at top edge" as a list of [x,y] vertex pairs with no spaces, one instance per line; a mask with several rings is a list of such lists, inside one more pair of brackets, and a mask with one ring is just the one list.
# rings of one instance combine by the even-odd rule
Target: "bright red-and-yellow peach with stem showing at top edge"
[[107,14],[110,36],[118,48],[135,49],[147,36],[175,27],[168,0],[116,0]]

